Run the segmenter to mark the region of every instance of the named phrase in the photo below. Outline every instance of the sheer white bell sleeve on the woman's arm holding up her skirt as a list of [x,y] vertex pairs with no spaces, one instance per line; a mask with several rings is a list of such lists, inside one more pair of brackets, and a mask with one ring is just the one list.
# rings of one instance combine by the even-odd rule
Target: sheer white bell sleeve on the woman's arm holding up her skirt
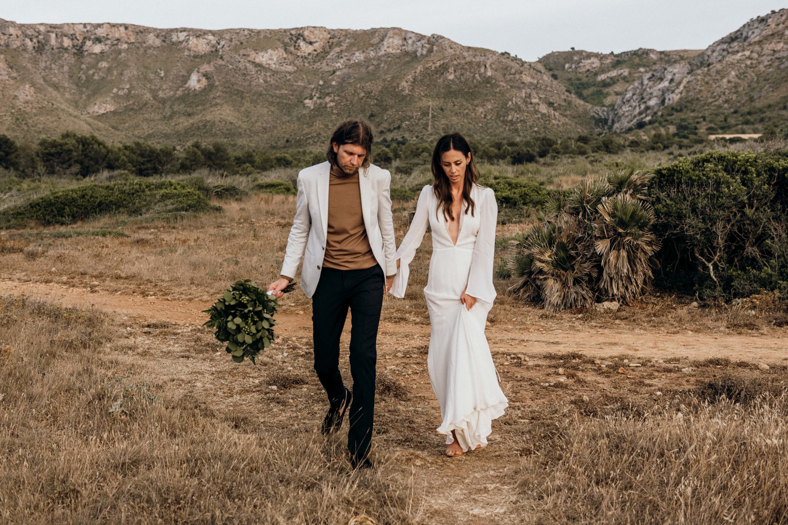
[[498,204],[495,192],[485,188],[479,212],[479,232],[474,245],[474,255],[470,263],[466,294],[492,304],[496,298],[492,285],[492,271],[495,266],[495,227],[498,222]]

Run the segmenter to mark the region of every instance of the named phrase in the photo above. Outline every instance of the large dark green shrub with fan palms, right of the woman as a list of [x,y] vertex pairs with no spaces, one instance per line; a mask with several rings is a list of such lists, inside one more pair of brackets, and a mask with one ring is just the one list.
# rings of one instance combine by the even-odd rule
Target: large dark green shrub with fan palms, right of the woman
[[519,299],[558,311],[630,302],[655,270],[660,287],[703,299],[785,297],[788,153],[711,151],[586,179],[548,199],[500,273]]

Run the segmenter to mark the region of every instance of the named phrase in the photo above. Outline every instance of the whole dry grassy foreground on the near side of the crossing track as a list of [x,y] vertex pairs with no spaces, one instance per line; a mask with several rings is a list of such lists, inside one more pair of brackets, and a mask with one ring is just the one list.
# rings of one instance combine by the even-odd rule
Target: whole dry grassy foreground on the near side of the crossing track
[[785,367],[640,359],[630,377],[615,370],[634,356],[494,351],[511,406],[458,462],[429,431],[425,340],[394,337],[377,468],[353,472],[316,431],[309,337],[236,365],[196,326],[0,299],[0,522],[478,523],[494,495],[501,523],[786,523]]

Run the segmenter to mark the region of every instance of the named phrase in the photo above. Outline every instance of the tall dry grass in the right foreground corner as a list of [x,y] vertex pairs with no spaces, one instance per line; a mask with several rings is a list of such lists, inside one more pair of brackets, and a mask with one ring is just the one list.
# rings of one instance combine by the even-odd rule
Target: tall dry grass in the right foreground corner
[[531,442],[539,523],[788,523],[788,400],[575,415]]

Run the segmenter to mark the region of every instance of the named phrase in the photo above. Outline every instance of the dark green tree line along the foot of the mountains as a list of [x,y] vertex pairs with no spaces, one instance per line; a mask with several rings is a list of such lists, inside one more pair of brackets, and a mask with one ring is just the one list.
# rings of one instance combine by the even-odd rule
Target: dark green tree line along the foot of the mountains
[[[638,134],[640,135],[640,134]],[[619,134],[574,137],[537,136],[525,140],[476,141],[472,147],[480,162],[522,166],[560,157],[617,155],[623,151],[689,151],[708,147],[697,131],[683,128],[675,133],[661,128],[647,138]],[[409,175],[429,165],[434,143],[426,140],[384,139],[375,143],[372,161],[398,175]],[[0,135],[0,169],[11,169],[24,177],[72,175],[90,177],[103,171],[127,171],[138,177],[193,173],[210,169],[223,173],[251,176],[273,169],[301,169],[325,162],[325,150],[270,149],[232,150],[227,144],[192,142],[181,147],[154,145],[141,141],[113,145],[96,136],[65,132],[38,143],[17,143]]]

